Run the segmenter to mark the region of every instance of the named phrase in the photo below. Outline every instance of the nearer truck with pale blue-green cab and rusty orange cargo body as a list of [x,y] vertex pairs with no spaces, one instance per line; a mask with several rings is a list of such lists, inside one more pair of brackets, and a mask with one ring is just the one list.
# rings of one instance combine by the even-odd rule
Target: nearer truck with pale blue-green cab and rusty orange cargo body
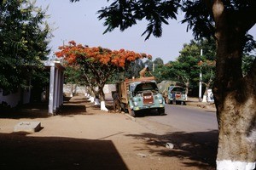
[[117,83],[120,106],[131,116],[142,114],[142,111],[155,110],[159,115],[165,113],[165,99],[159,93],[154,77],[128,79]]

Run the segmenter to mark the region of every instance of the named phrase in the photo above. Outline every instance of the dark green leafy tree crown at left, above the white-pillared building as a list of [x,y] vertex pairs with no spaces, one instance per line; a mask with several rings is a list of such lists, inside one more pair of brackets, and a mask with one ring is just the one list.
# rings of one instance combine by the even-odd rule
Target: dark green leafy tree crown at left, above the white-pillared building
[[0,4],[0,88],[26,86],[27,75],[46,59],[49,26],[45,12],[26,0]]

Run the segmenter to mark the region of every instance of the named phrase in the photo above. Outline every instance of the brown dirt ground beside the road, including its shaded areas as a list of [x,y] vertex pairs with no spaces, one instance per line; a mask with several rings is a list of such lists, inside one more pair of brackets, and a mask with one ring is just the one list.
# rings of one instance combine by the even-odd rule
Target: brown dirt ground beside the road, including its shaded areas
[[[188,103],[214,110],[194,100]],[[41,129],[14,133],[19,122],[41,122]],[[0,169],[212,170],[216,141],[193,140],[209,135],[216,137],[217,132],[177,133],[171,126],[132,121],[124,113],[100,111],[87,99],[73,97],[56,116],[47,116],[45,104],[1,113]]]

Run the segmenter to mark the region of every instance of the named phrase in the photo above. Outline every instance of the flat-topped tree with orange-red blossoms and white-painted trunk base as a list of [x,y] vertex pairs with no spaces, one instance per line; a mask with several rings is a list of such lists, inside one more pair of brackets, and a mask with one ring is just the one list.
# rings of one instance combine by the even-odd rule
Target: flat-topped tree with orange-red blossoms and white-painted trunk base
[[96,94],[95,88],[98,87],[98,94],[102,102],[101,109],[106,110],[105,94],[103,87],[115,72],[124,71],[130,63],[136,59],[148,58],[151,55],[139,54],[125,49],[110,50],[108,48],[83,46],[74,41],[68,45],[61,46],[60,51],[56,52],[57,57],[63,57],[67,65],[79,65],[84,72],[84,79],[92,92]]

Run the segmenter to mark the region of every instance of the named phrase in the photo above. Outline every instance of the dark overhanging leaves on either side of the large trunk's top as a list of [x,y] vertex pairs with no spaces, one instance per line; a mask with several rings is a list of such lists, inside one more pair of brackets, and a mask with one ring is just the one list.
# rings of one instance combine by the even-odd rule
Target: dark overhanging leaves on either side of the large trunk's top
[[[254,0],[231,0],[222,1],[222,3],[224,3],[227,14],[231,16],[229,20],[230,25],[236,25],[241,20],[244,21],[245,15],[242,14],[241,11],[255,8],[256,5]],[[188,28],[192,29],[196,39],[200,37],[215,37],[215,22],[212,18],[212,2],[206,2],[201,0],[183,1],[182,10],[185,14],[185,19],[183,20],[183,23],[188,23]],[[249,27],[244,27],[243,29],[247,29],[244,30],[244,33],[246,33]]]

